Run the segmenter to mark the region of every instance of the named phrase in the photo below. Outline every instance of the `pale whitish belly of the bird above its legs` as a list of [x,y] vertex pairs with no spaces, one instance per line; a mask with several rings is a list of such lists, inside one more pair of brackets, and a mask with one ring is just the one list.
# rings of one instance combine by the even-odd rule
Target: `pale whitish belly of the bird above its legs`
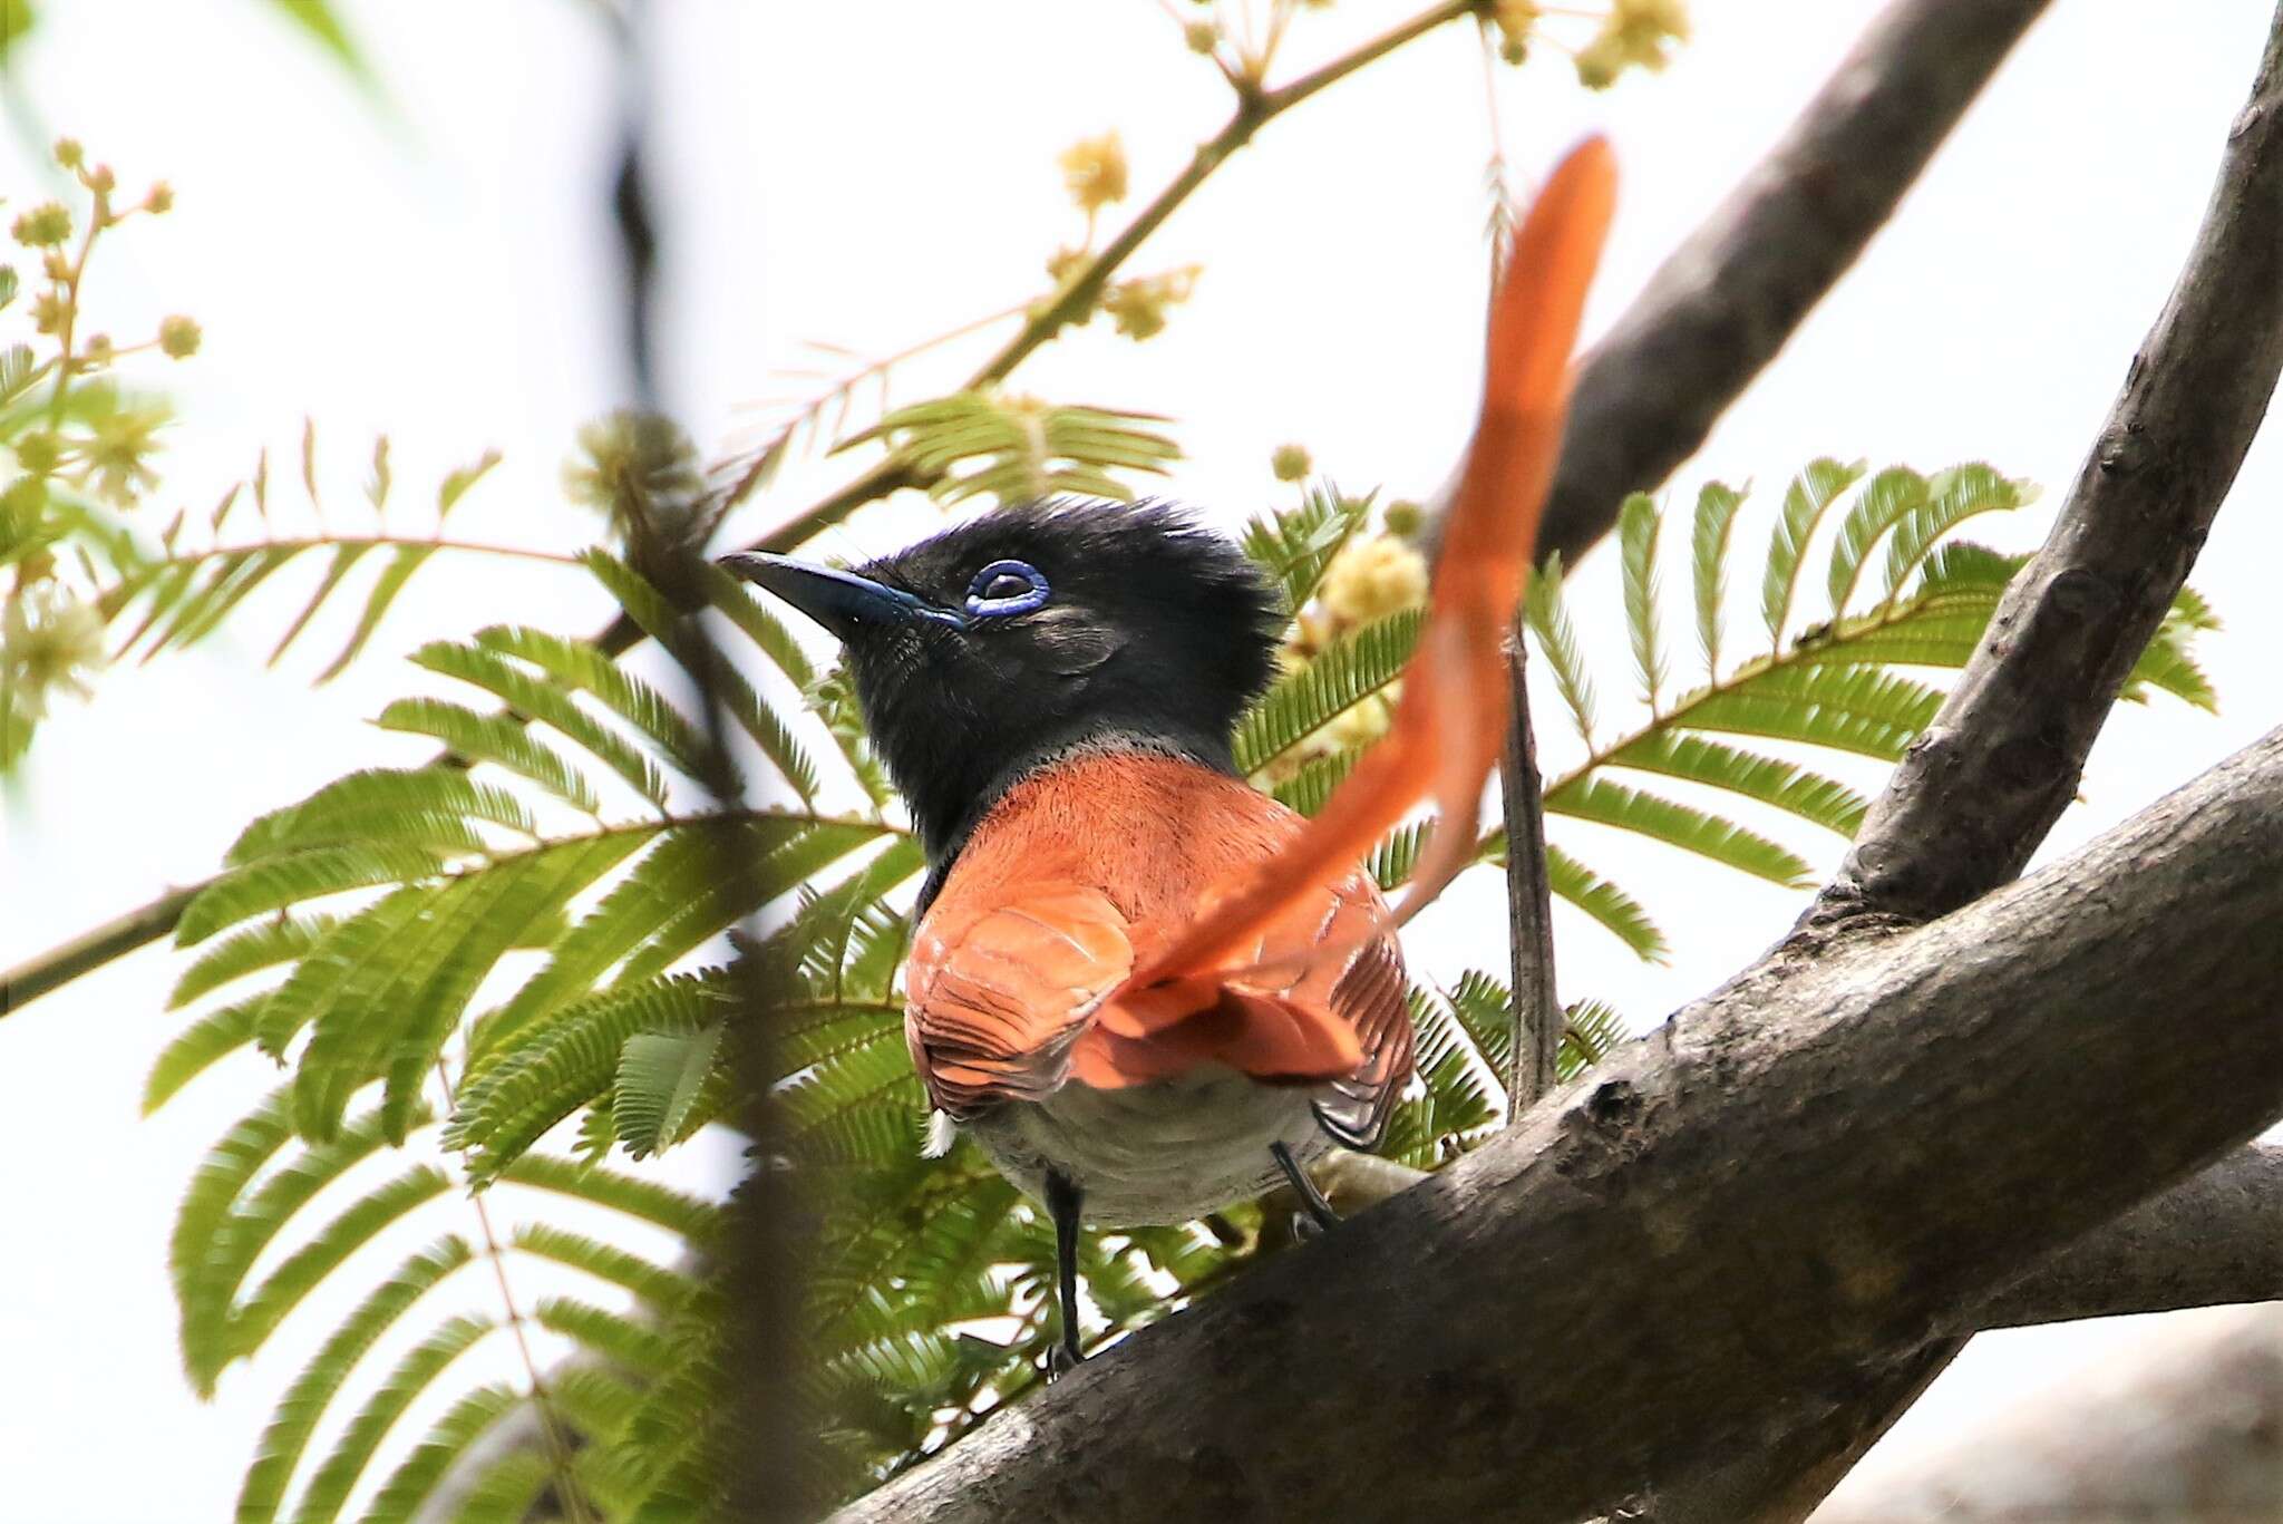
[[1203,1065],[1123,1090],[1068,1083],[1043,1101],[1007,1101],[968,1122],[991,1161],[1034,1200],[1055,1168],[1103,1227],[1187,1222],[1283,1181],[1283,1142],[1301,1163],[1331,1140],[1315,1124],[1313,1085],[1262,1085]]

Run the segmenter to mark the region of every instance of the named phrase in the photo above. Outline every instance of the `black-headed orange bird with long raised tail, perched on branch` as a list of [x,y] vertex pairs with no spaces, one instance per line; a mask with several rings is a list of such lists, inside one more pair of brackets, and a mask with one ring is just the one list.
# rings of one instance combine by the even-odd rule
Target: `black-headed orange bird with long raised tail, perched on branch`
[[1057,1371],[1084,1357],[1084,1222],[1187,1222],[1281,1181],[1329,1229],[1308,1165],[1374,1147],[1411,1081],[1399,914],[1363,859],[1429,793],[1404,909],[1473,857],[1612,174],[1589,139],[1514,233],[1404,697],[1315,820],[1231,743],[1285,610],[1183,507],[1023,503],[856,569],[721,558],[842,644],[927,859],[913,1067],[1052,1218]]

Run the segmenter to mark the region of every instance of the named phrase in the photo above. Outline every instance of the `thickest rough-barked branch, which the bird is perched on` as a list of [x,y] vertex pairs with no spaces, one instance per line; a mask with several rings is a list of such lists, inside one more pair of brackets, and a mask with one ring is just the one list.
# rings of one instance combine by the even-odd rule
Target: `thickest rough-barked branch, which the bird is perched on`
[[2283,731],[1954,916],[1778,953],[842,1519],[1566,1524],[1758,1446],[2283,1113],[2276,916]]

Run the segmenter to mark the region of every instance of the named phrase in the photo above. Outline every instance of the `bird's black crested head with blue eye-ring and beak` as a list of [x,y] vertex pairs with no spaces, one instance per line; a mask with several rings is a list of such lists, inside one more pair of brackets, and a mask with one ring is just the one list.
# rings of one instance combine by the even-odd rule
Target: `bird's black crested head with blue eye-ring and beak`
[[1162,503],[1009,507],[854,571],[721,564],[840,637],[931,857],[1025,770],[1087,743],[1228,768],[1283,626],[1244,553]]

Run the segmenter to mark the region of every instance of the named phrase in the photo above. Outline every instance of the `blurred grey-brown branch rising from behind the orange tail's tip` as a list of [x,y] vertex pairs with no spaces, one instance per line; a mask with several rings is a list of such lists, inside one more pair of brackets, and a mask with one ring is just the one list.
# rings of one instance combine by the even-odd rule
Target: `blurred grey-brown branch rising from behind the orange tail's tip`
[[1897,0],[1783,142],[1587,354],[1539,530],[1575,564],[1630,491],[1712,432],[1902,194],[2048,0]]

